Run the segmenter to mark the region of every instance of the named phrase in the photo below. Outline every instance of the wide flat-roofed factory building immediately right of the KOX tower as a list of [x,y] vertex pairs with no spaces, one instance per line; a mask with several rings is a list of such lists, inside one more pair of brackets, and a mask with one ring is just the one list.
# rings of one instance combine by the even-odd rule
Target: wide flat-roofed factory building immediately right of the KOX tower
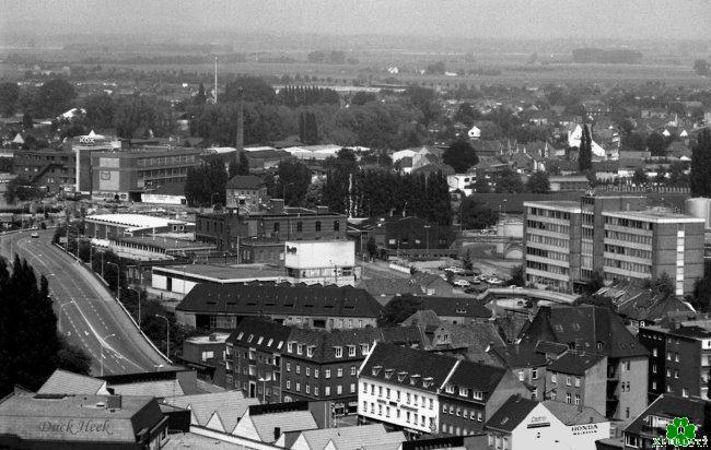
[[185,182],[188,168],[200,164],[200,149],[145,146],[116,152],[94,152],[92,196],[128,200],[149,188]]

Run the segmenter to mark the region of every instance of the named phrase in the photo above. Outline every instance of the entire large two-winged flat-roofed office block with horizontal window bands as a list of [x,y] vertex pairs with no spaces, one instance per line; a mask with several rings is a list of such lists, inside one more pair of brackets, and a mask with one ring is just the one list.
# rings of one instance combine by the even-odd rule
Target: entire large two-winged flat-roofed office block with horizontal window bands
[[637,282],[666,273],[684,295],[703,276],[703,220],[641,211],[640,197],[524,206],[524,267],[536,286],[578,292],[596,271],[610,281]]

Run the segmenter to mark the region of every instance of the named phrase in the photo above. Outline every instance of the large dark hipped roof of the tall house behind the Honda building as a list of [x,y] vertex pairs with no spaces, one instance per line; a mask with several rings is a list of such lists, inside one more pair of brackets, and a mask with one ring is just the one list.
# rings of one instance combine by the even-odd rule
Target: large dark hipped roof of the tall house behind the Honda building
[[617,313],[592,305],[540,307],[522,342],[540,341],[574,343],[576,351],[615,358],[648,355]]

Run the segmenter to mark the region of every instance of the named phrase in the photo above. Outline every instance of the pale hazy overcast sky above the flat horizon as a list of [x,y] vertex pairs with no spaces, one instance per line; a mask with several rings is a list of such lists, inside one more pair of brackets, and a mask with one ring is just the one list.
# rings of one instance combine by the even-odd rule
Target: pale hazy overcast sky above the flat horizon
[[711,39],[711,0],[0,0],[0,7],[5,31]]

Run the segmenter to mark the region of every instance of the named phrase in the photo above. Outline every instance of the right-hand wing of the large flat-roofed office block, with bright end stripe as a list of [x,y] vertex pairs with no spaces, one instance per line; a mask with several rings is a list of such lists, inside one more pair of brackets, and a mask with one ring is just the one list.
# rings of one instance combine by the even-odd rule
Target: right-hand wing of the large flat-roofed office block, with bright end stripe
[[662,211],[603,216],[605,279],[642,281],[666,274],[676,295],[684,295],[703,277],[703,218]]

